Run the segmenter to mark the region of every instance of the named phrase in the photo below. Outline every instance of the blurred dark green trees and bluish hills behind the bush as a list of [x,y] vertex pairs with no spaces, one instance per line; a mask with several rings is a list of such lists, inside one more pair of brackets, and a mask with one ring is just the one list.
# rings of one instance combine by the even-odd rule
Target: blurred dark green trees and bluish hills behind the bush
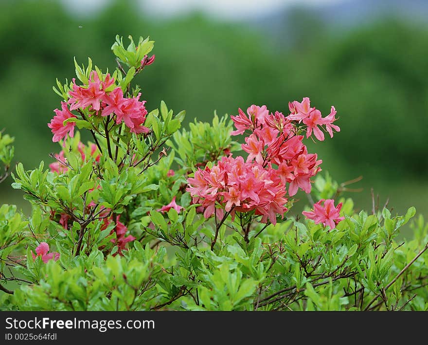
[[[116,34],[125,42],[150,36],[156,61],[137,79],[148,109],[163,99],[185,109],[188,123],[251,104],[287,112],[304,96],[325,115],[334,105],[341,132],[308,145],[323,170],[338,182],[363,176],[350,186],[363,190],[346,194],[357,209],[371,209],[373,188],[382,205],[389,198],[397,212],[414,205],[428,216],[426,1],[320,1],[247,18],[162,16],[141,1],[106,1],[95,11],[64,2],[0,4],[0,129],[15,136],[15,162],[26,169],[60,149],[47,127],[60,102],[52,86],[74,76],[73,56],[114,69]],[[392,3],[397,11],[385,11]],[[11,182],[0,186],[0,203],[28,212]]]

